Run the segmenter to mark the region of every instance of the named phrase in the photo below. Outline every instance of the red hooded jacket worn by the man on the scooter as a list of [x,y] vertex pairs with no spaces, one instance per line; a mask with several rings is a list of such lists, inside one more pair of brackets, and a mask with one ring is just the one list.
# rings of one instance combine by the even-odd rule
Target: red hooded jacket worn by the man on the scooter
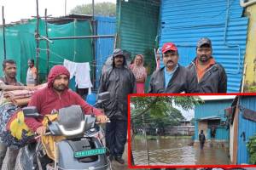
[[[32,99],[29,106],[36,106],[38,112],[42,115],[47,115],[52,112],[58,111],[61,108],[68,107],[70,105],[80,105],[84,114],[94,114],[96,116],[102,115],[102,111],[87,104],[79,94],[76,94],[72,90],[66,88],[61,95],[58,95],[53,89],[53,83],[55,78],[60,75],[67,75],[70,77],[69,72],[63,65],[55,65],[50,71],[48,76],[48,87],[38,90],[32,95]],[[26,118],[26,125],[36,131],[38,127],[43,126],[42,119],[35,119],[32,117]]]

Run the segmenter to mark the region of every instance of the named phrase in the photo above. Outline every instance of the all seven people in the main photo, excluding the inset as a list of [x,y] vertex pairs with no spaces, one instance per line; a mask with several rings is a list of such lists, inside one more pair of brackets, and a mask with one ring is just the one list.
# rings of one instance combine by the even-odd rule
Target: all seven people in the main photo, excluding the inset
[[[208,38],[201,38],[197,42],[196,57],[188,67],[178,64],[179,54],[177,46],[166,42],[161,48],[164,67],[154,71],[149,82],[148,93],[225,93],[227,77],[224,67],[212,57],[212,42]],[[98,93],[109,92],[110,99],[103,105],[104,112],[88,105],[79,94],[68,89],[70,73],[63,65],[55,65],[48,75],[48,86],[32,95],[29,106],[36,106],[38,112],[45,115],[58,111],[70,105],[80,105],[84,114],[91,111],[99,122],[106,124],[106,145],[110,150],[109,159],[125,163],[122,155],[127,138],[127,95],[145,93],[144,84],[147,71],[143,66],[143,55],[137,54],[134,63],[127,65],[124,51],[115,49],[112,55],[113,62],[109,69],[102,71]],[[27,85],[36,84],[36,70],[34,62],[28,62]],[[0,78],[0,89],[31,89],[23,86],[15,78],[16,65],[12,59],[3,61],[4,76]],[[28,127],[34,132],[44,135],[46,127],[42,120],[26,118]],[[0,167],[6,154],[7,147],[0,144]],[[10,150],[8,169],[14,169],[18,151]]]

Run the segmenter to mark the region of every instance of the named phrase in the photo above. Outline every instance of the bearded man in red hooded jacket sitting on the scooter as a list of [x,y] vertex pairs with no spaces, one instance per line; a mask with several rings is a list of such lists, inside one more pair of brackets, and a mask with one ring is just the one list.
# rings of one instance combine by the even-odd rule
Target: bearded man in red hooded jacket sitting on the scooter
[[[33,94],[28,105],[37,107],[41,115],[59,111],[59,109],[70,105],[80,105],[84,114],[93,113],[96,115],[97,122],[108,122],[108,117],[102,111],[88,105],[79,94],[68,89],[69,77],[70,73],[63,65],[55,65],[49,71],[48,87],[38,90]],[[43,126],[42,119],[27,117],[25,122],[34,132],[39,135],[45,134],[46,127]]]

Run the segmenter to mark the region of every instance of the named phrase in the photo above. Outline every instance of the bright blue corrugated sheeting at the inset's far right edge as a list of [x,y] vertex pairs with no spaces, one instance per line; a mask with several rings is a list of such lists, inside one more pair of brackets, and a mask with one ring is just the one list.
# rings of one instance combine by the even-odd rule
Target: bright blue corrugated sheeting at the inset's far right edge
[[[245,96],[240,100],[240,105],[244,108],[256,111],[256,97],[255,96]],[[256,134],[256,122],[244,119],[239,113],[238,121],[238,147],[237,147],[237,164],[249,163],[249,156],[247,152],[247,142],[249,138]],[[245,141],[243,140],[242,133],[245,133]]]

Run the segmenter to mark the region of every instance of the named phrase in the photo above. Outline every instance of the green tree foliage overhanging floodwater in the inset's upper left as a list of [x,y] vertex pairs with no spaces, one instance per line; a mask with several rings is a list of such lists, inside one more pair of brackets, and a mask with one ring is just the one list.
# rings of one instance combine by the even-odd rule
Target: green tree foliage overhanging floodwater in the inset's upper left
[[135,127],[143,125],[143,118],[148,127],[175,126],[184,117],[173,105],[188,111],[200,103],[201,99],[197,96],[132,97],[131,118]]

